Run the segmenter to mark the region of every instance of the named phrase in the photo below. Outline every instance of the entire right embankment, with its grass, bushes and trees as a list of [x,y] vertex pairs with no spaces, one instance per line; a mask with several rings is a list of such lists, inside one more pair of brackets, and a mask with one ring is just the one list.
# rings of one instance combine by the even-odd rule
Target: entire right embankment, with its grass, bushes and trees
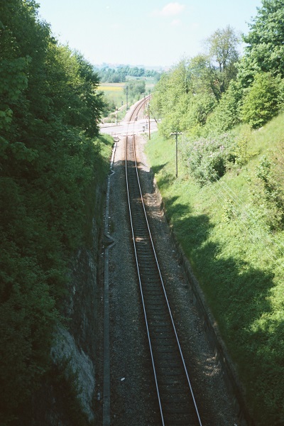
[[242,58],[234,31],[217,30],[204,54],[161,76],[151,102],[168,218],[263,426],[284,423],[283,19],[283,0],[262,0]]

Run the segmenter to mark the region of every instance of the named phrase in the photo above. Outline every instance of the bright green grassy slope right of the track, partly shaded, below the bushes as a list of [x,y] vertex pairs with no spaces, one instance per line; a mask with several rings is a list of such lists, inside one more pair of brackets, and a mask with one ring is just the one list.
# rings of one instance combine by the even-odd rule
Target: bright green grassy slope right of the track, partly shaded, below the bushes
[[202,188],[182,158],[175,179],[174,140],[156,134],[146,152],[168,218],[238,366],[253,417],[259,425],[283,425],[284,233],[261,226],[261,207],[252,197],[261,155],[284,142],[283,115],[260,131],[238,131],[248,134],[255,155],[246,167]]

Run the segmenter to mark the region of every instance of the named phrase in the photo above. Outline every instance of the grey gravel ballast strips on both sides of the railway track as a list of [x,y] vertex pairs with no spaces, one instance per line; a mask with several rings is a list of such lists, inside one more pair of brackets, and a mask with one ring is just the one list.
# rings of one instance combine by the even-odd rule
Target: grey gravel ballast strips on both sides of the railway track
[[[136,141],[151,232],[202,425],[239,425],[233,398],[207,341],[156,197],[153,178],[143,155],[145,141],[142,136]],[[111,425],[160,425],[129,226],[124,148],[125,139],[121,138],[114,157],[109,204],[109,234],[115,241],[109,251]]]

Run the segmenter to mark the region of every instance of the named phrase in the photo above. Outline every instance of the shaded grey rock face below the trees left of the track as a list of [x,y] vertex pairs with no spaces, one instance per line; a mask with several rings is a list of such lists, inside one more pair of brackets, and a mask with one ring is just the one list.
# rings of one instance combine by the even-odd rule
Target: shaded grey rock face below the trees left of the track
[[[95,199],[101,206],[102,190]],[[99,237],[100,226],[93,220],[92,247],[81,248],[71,262],[69,295],[63,308],[67,324],[55,332],[51,349],[53,373],[43,381],[33,398],[33,425],[94,424],[99,342]],[[77,413],[78,408],[83,415]]]

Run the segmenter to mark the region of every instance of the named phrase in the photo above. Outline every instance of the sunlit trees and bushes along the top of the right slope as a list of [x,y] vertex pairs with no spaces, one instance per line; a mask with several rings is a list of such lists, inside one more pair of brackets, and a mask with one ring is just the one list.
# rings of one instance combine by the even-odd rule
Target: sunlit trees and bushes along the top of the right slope
[[172,131],[207,137],[242,121],[257,129],[278,114],[284,99],[283,16],[283,0],[263,0],[243,37],[241,59],[240,40],[227,27],[207,39],[202,55],[162,75],[152,109],[163,119],[165,137]]

